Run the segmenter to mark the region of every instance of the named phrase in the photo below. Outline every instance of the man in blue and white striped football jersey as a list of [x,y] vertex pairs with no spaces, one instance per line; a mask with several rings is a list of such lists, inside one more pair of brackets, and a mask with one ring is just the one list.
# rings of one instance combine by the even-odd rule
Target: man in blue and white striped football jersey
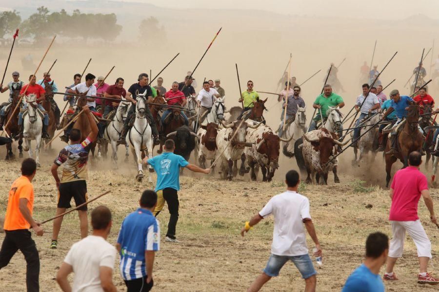
[[120,253],[120,273],[128,292],[151,290],[154,257],[160,250],[159,221],[152,214],[157,194],[145,190],[139,204],[140,208],[123,219],[116,244]]

